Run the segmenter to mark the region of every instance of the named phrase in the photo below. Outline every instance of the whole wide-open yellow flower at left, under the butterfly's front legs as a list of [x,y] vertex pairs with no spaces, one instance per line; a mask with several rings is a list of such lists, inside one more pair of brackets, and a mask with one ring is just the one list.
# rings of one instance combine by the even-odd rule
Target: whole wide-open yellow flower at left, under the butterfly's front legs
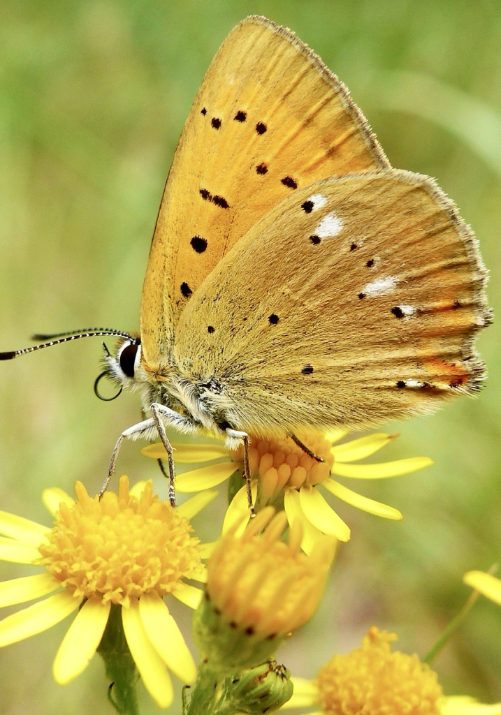
[[35,576],[0,583],[0,606],[52,594],[0,621],[0,646],[40,633],[79,609],[53,665],[54,679],[66,684],[89,664],[117,604],[137,670],[157,704],[167,707],[169,669],[191,684],[196,668],[162,596],[172,594],[191,608],[200,603],[203,592],[184,582],[205,580],[203,547],[191,536],[188,519],[215,494],[172,509],[152,494],[149,482],[129,490],[126,476],[118,494],[108,491],[101,501],[80,482],[75,492],[76,501],[59,489],[44,492],[55,515],[52,529],[0,512],[0,559],[45,567]]

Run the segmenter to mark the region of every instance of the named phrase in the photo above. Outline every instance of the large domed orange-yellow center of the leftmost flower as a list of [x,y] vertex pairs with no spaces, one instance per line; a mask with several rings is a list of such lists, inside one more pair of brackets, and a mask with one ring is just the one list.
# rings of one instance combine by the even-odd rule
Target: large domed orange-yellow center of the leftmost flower
[[41,563],[76,598],[98,596],[127,606],[131,597],[156,591],[165,596],[183,578],[200,573],[198,538],[188,519],[159,501],[147,483],[140,498],[121,477],[118,494],[101,501],[75,485],[77,501],[61,503]]

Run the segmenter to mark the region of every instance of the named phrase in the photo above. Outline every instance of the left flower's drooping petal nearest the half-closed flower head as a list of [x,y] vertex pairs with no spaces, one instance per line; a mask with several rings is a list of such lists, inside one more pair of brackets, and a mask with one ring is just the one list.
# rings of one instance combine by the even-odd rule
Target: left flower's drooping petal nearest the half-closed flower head
[[180,681],[186,685],[193,684],[197,678],[197,666],[165,601],[155,591],[145,593],[139,601],[139,613],[147,636],[162,661]]

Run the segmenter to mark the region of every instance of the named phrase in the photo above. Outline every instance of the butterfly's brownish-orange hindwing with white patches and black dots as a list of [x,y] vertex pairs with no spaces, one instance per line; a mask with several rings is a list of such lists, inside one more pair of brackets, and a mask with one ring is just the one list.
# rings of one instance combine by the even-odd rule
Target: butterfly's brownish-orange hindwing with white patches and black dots
[[328,179],[263,217],[183,312],[180,373],[252,433],[374,425],[471,393],[489,320],[471,230],[427,177]]

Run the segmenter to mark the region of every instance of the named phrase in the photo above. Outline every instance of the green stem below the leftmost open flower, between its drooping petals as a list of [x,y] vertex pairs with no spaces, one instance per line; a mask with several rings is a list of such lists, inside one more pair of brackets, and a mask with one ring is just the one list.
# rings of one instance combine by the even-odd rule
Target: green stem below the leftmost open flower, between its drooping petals
[[122,626],[121,606],[112,605],[97,652],[110,680],[108,700],[120,715],[140,715],[136,686],[139,674]]

